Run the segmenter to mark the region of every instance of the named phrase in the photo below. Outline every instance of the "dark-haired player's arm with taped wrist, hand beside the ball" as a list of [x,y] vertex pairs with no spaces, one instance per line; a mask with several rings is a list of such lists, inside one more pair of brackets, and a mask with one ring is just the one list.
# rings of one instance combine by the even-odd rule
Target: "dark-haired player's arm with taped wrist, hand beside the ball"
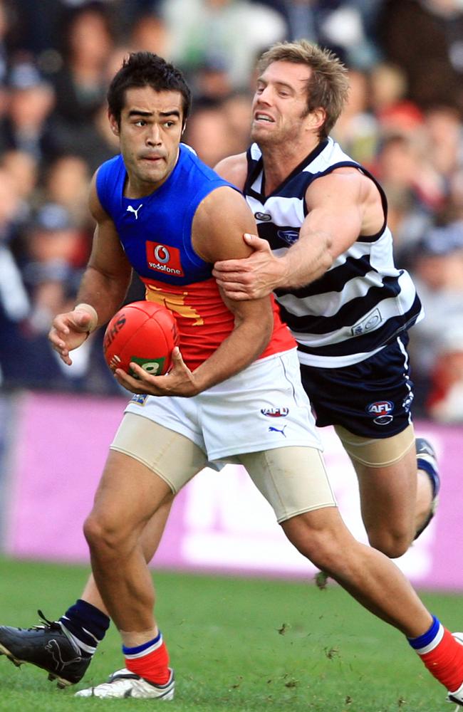
[[115,224],[103,209],[96,190],[96,174],[90,184],[90,213],[96,221],[93,245],[77,295],[77,306],[53,319],[48,334],[61,360],[72,361],[76,349],[99,326],[110,320],[125,298],[132,268],[120,244]]

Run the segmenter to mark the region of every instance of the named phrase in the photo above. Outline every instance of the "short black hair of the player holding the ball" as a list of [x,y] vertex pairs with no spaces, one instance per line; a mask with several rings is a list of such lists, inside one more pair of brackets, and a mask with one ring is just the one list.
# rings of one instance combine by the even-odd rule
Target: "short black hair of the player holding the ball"
[[120,124],[120,114],[128,89],[150,86],[155,91],[178,91],[182,95],[183,117],[187,120],[192,105],[192,94],[180,69],[152,52],[132,52],[113,77],[108,89],[110,114]]

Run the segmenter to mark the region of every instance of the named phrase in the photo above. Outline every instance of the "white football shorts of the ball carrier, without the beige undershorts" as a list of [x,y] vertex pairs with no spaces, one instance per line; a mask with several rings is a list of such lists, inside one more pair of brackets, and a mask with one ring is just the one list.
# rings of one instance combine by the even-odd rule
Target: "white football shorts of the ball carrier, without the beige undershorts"
[[296,349],[254,361],[192,398],[135,395],[125,412],[186,436],[209,461],[283,446],[322,449]]

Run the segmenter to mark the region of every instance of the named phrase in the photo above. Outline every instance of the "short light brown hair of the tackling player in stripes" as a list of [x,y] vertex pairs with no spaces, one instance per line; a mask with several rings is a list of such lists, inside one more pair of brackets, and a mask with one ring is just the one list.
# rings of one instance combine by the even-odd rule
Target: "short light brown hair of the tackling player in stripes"
[[320,129],[321,138],[326,138],[338,120],[348,98],[348,70],[340,59],[328,49],[323,49],[307,40],[277,42],[259,58],[259,74],[274,62],[305,64],[311,68],[307,81],[307,112],[322,108],[326,119]]

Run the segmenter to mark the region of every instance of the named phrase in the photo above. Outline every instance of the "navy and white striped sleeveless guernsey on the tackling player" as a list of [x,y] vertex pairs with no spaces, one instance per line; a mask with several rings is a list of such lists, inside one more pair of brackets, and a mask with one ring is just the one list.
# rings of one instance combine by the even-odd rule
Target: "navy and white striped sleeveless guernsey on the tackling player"
[[298,342],[301,363],[334,368],[363,361],[422,318],[410,275],[394,265],[384,191],[365,168],[328,138],[266,197],[262,156],[256,144],[249,148],[247,160],[246,201],[259,236],[269,241],[277,255],[298,239],[307,215],[308,186],[333,169],[357,167],[373,180],[383,201],[385,219],[380,232],[359,236],[308,286],[276,291],[283,320]]

